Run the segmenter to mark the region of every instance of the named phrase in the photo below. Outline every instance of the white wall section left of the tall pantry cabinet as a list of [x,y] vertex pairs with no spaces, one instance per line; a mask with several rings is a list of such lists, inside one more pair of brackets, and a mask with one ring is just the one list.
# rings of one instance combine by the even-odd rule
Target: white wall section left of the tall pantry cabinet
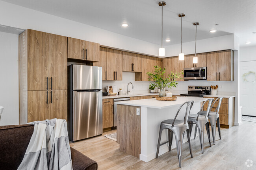
[[0,125],[19,124],[19,37],[0,32]]

